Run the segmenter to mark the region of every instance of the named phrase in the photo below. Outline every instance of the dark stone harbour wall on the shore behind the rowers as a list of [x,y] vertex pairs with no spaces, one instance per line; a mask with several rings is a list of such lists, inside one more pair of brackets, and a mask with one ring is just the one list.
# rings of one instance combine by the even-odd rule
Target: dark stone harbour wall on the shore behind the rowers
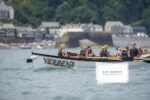
[[78,47],[79,41],[89,39],[98,45],[108,44],[113,45],[112,36],[109,33],[89,33],[89,32],[70,32],[65,34],[57,44],[65,43],[68,47]]

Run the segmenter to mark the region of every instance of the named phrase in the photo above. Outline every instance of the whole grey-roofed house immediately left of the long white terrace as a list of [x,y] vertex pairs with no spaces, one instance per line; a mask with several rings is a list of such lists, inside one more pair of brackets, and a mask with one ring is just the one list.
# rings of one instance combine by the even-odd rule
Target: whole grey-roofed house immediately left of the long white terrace
[[42,34],[43,39],[52,39],[59,28],[59,22],[42,22],[38,28],[38,34]]

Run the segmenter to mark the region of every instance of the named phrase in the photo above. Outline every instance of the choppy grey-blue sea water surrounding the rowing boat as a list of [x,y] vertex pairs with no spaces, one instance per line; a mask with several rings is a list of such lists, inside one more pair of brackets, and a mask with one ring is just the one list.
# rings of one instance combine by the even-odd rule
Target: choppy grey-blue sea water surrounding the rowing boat
[[[39,50],[56,54],[56,49]],[[70,51],[77,51],[70,49]],[[31,50],[0,50],[0,100],[149,100],[150,64],[132,63],[129,83],[97,85],[94,63],[76,69],[40,68],[26,63]],[[38,65],[40,66],[40,65]]]

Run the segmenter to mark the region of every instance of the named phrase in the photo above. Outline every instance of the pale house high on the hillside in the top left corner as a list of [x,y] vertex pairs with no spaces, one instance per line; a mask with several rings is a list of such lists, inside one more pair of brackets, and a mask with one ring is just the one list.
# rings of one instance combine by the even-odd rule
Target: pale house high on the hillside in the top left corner
[[5,5],[2,0],[0,1],[0,19],[14,19],[13,7]]

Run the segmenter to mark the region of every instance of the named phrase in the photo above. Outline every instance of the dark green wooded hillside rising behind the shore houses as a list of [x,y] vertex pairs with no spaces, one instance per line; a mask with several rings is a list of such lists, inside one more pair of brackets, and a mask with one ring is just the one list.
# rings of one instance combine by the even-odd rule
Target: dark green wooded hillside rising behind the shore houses
[[13,6],[18,22],[34,26],[43,20],[102,25],[120,20],[150,33],[150,0],[14,0]]

